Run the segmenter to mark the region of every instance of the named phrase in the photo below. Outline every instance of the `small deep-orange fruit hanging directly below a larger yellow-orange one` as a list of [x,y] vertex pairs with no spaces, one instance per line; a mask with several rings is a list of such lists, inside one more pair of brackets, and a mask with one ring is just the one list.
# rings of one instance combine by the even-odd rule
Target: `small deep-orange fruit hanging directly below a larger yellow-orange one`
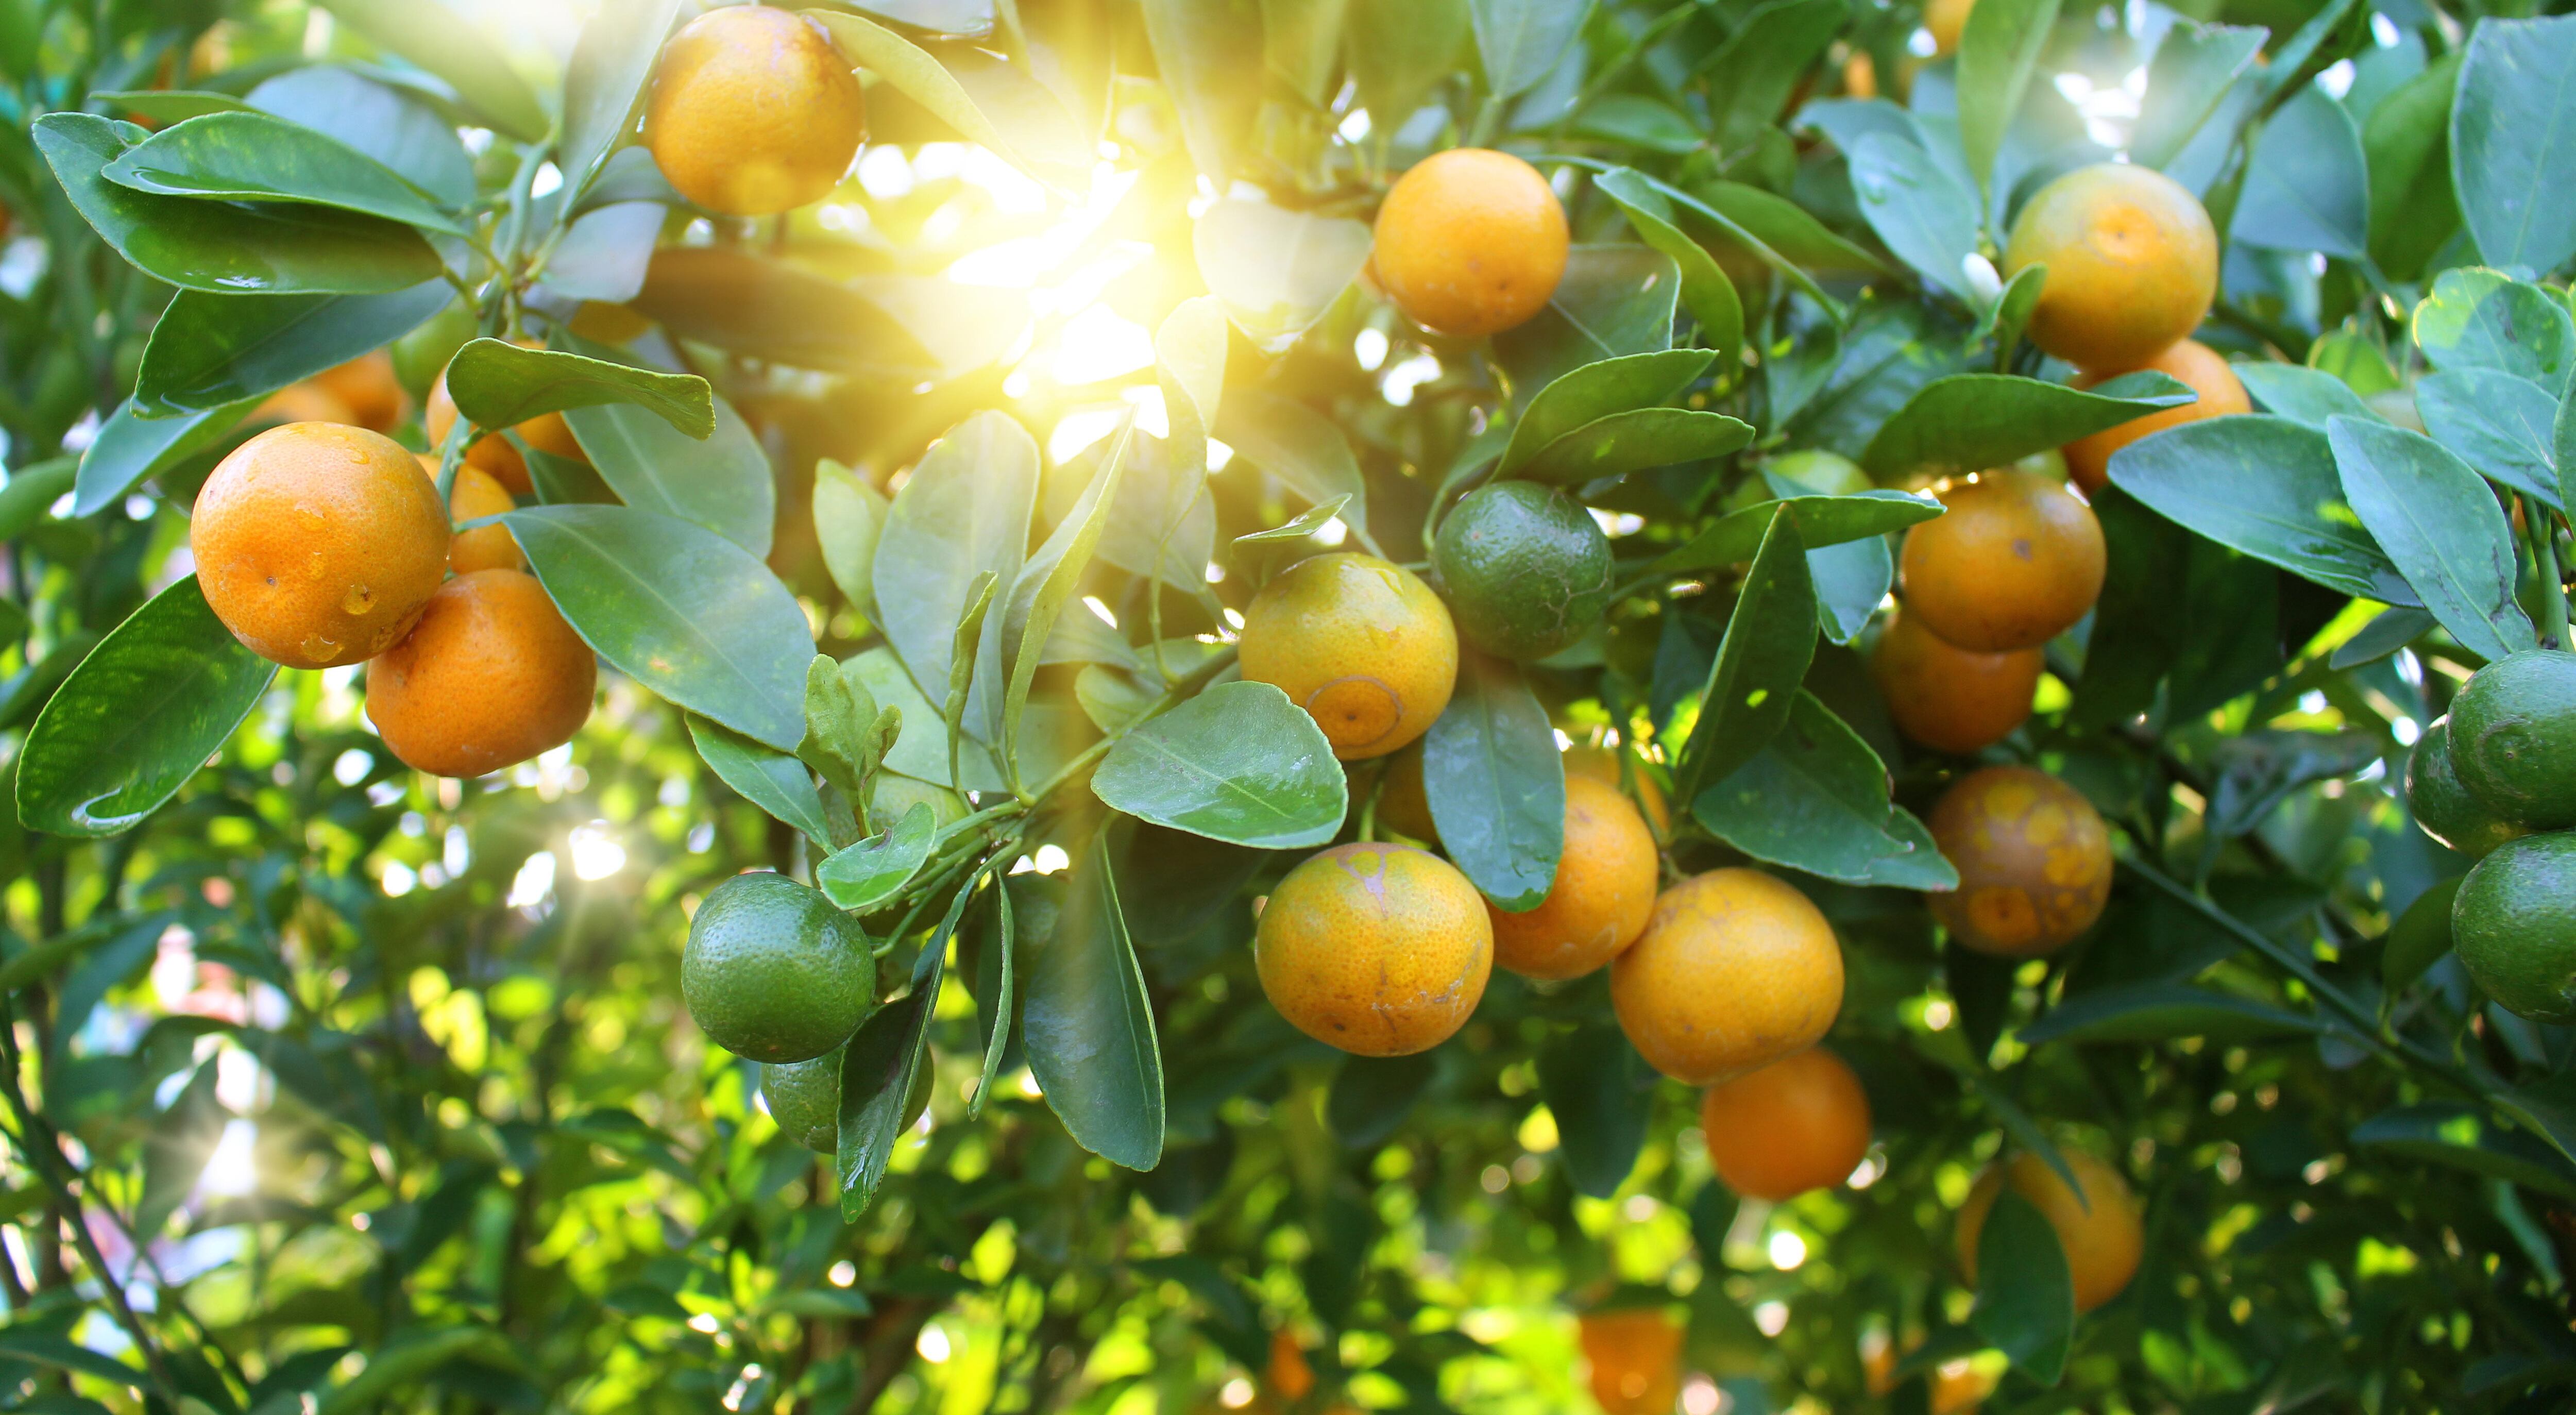
[[1870,1095],[1824,1046],[1721,1080],[1700,1101],[1708,1162],[1744,1198],[1834,1188],[1870,1155]]

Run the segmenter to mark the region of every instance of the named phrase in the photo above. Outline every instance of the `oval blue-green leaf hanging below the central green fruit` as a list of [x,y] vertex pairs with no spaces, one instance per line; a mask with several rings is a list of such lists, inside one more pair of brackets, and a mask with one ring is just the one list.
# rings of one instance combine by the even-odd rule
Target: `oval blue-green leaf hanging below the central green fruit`
[[1499,910],[1535,910],[1566,848],[1566,763],[1520,668],[1458,652],[1458,688],[1422,737],[1440,848]]

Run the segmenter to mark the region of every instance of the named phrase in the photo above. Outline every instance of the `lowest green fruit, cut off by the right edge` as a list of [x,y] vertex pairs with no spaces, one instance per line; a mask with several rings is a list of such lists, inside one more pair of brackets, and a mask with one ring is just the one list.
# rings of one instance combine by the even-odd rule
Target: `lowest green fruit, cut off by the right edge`
[[2450,905],[2450,943],[2506,1013],[2576,1023],[2576,833],[2524,835],[2478,861]]

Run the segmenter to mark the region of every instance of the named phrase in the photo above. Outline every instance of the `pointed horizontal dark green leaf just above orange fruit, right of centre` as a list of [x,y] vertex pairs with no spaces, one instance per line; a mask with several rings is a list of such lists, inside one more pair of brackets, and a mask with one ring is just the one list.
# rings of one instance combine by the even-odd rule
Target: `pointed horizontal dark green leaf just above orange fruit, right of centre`
[[2187,384],[2156,371],[2120,374],[2094,389],[2014,374],[1950,374],[1914,389],[1870,438],[1860,464],[1878,479],[1984,472],[2195,397]]

